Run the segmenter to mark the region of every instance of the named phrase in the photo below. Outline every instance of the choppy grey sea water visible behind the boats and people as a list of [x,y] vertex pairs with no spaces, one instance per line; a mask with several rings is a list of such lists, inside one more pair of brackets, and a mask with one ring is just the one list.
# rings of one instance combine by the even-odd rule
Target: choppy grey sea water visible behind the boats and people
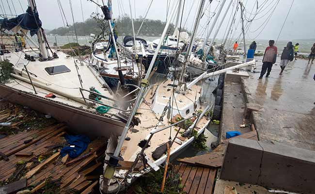
[[[148,42],[152,42],[153,40],[159,38],[159,37],[154,37],[154,36],[139,36],[140,38],[145,39]],[[68,40],[69,38],[69,40]],[[33,36],[32,38],[35,42],[36,36]],[[122,43],[122,36],[118,37],[118,42]],[[57,45],[58,46],[63,46],[64,44],[67,44],[70,42],[76,42],[76,38],[74,36],[47,36],[47,41],[50,46],[53,46],[53,43],[55,43],[57,40]],[[78,36],[78,42],[80,45],[89,45],[89,41],[92,41],[92,39],[89,36]],[[234,41],[234,40],[233,40]],[[261,51],[264,52],[266,47],[268,47],[268,40],[260,40],[257,39],[255,40],[257,43],[257,49],[256,52]],[[299,43],[299,53],[300,54],[309,54],[311,51],[311,48],[313,44],[315,43],[315,39],[304,39],[304,40],[279,40],[276,44],[278,47],[279,52],[282,52],[283,48],[286,46],[288,41],[292,41],[293,44]],[[217,44],[220,44],[222,42],[222,39],[216,39],[215,42]],[[232,41],[227,41],[227,43],[230,42],[230,47],[233,47],[233,42]],[[238,42],[238,49],[243,50],[243,43],[241,41]],[[246,47],[247,49],[249,48],[250,44],[252,43],[252,40],[248,40],[246,42]]]

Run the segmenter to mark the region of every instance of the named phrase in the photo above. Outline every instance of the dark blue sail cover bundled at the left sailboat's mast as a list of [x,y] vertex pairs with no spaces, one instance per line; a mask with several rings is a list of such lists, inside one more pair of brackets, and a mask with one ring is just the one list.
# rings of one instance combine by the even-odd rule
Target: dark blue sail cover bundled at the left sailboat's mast
[[28,7],[25,14],[11,19],[0,19],[0,25],[1,28],[6,30],[12,30],[16,26],[19,26],[25,30],[29,30],[31,36],[33,36],[42,27],[42,21],[39,19],[37,11],[34,10],[32,12],[31,7]]

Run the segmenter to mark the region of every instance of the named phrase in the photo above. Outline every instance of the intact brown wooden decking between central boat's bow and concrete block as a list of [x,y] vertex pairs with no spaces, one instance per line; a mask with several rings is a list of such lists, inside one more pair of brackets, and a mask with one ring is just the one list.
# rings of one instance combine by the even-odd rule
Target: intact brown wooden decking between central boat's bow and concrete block
[[182,178],[183,191],[187,194],[212,194],[214,179],[217,174],[216,168],[190,166],[180,163],[175,166],[175,171]]

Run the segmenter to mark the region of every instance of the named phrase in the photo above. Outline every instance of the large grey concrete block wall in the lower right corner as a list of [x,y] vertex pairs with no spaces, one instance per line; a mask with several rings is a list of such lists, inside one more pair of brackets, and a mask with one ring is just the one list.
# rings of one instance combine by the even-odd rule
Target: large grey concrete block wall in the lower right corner
[[315,151],[232,139],[226,150],[221,179],[315,194]]

